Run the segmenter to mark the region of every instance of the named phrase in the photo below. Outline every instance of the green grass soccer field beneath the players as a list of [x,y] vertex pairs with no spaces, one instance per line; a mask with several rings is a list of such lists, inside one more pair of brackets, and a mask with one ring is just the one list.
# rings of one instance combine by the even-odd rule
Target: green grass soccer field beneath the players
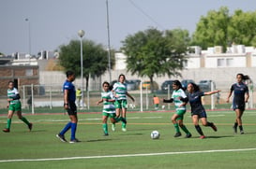
[[[60,110],[60,112],[63,112]],[[256,112],[247,110],[243,117],[246,134],[233,134],[234,113],[208,111],[218,132],[203,127],[205,139],[199,139],[189,112],[185,124],[191,138],[174,138],[170,117],[173,112],[128,112],[128,131],[121,125],[110,135],[102,136],[101,114],[79,114],[77,144],[62,143],[55,137],[67,123],[62,113],[24,116],[34,123],[32,132],[13,118],[11,132],[0,132],[0,168],[255,168]],[[7,116],[0,116],[6,126]],[[158,140],[150,133],[158,130]],[[66,134],[69,138],[70,132]],[[8,161],[12,160],[12,161]],[[20,160],[20,161],[19,161]]]

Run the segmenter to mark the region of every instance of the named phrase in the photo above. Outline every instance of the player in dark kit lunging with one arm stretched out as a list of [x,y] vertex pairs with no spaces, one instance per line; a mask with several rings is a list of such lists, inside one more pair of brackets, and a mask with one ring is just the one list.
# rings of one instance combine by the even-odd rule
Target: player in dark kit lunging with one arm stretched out
[[192,120],[196,131],[201,135],[201,139],[205,138],[205,136],[199,125],[199,120],[201,120],[203,126],[210,126],[215,132],[217,132],[217,127],[214,125],[214,123],[207,120],[206,111],[202,105],[202,96],[211,95],[218,92],[220,91],[201,92],[198,85],[195,83],[188,83],[188,101],[191,106]]

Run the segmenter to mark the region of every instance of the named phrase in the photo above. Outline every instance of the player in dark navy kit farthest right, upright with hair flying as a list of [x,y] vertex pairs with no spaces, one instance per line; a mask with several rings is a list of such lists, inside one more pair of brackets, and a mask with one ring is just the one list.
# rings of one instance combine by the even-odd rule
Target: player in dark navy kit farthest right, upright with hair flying
[[244,134],[244,129],[242,125],[242,116],[245,111],[246,103],[248,102],[248,86],[243,82],[245,80],[243,74],[237,74],[236,80],[231,87],[230,93],[227,98],[227,103],[230,101],[230,97],[233,93],[233,111],[235,111],[236,118],[233,124],[233,132],[237,133],[237,126],[239,127],[240,134]]

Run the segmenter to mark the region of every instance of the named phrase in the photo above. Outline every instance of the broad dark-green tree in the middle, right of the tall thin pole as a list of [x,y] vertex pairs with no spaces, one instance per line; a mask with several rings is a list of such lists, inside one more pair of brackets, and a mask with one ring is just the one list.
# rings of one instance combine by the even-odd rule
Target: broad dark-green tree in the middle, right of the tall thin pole
[[[166,34],[155,28],[128,35],[122,42],[127,58],[127,69],[132,75],[149,77],[180,75],[187,51],[188,31],[173,30]],[[153,89],[151,88],[151,92]]]

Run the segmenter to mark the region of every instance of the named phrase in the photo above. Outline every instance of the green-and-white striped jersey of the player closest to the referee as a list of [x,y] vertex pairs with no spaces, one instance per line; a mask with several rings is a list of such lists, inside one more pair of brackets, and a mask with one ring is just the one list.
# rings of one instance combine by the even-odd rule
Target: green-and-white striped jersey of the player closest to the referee
[[[101,98],[102,99],[114,99],[113,92],[101,92]],[[115,107],[113,105],[113,102],[103,102],[103,113],[115,113]]]

